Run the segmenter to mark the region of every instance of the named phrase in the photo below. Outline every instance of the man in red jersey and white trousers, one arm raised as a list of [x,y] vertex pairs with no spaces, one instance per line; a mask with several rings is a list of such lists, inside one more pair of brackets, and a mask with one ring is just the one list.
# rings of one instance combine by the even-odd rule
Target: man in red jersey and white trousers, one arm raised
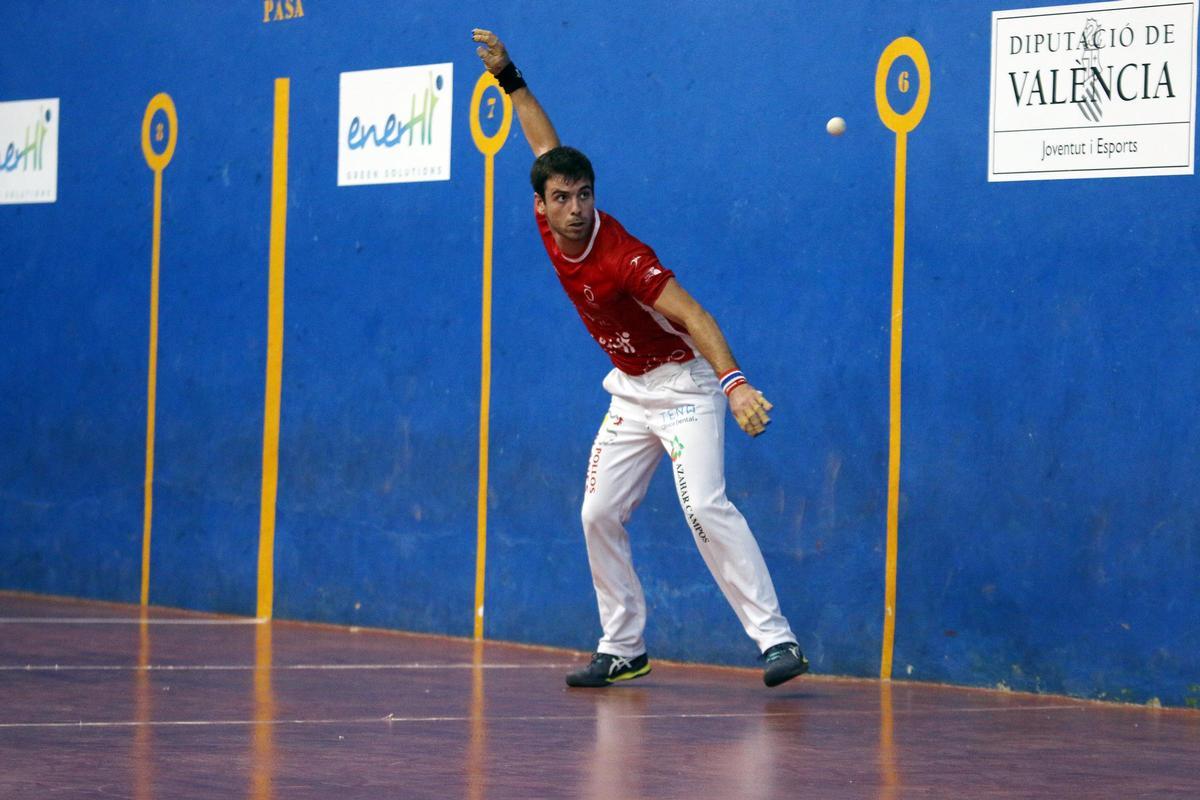
[[[583,534],[604,636],[570,686],[607,686],[650,672],[646,600],[624,523],[666,451],[684,518],[726,600],[766,660],[763,681],[802,675],[800,652],[750,527],[725,495],[725,407],[756,437],[772,405],[742,371],[716,320],[654,251],[596,210],[592,164],[558,134],[496,34],[476,53],[509,95],[536,161],[534,216],[566,295],[614,368],[583,494]],[[727,399],[726,399],[727,398]]]

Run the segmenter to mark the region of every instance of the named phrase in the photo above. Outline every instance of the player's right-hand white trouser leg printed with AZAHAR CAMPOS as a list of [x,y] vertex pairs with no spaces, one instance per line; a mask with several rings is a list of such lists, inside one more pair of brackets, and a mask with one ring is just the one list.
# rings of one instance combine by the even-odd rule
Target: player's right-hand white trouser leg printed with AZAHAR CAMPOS
[[700,392],[679,392],[654,429],[671,456],[676,493],[696,547],[746,634],[764,652],[794,643],[796,634],[780,612],[750,525],[725,494],[725,396],[715,378],[714,386],[707,386],[707,375],[698,383]]

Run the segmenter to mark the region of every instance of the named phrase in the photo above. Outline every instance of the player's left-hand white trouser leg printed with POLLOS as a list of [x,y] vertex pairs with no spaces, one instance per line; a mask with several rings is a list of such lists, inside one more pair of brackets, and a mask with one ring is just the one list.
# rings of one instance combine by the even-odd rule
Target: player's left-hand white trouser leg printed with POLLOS
[[646,599],[634,572],[625,523],[646,497],[661,458],[658,438],[642,414],[626,414],[614,402],[592,445],[581,513],[604,628],[599,652],[623,658],[646,652]]

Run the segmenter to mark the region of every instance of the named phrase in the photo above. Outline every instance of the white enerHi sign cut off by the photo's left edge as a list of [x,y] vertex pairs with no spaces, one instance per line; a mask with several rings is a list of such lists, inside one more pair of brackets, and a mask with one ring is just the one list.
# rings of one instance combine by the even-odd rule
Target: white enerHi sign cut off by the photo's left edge
[[0,203],[59,196],[59,98],[0,103]]

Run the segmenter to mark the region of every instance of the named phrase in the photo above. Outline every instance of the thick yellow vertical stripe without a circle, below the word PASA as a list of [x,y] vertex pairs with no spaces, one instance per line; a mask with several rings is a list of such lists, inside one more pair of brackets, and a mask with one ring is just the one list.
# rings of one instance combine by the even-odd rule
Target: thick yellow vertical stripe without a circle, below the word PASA
[[292,83],[275,80],[275,143],[271,157],[270,275],[266,311],[266,392],[263,410],[263,499],[258,521],[258,616],[275,604],[275,500],[278,492],[280,395],[283,380],[283,251],[288,213],[288,108]]

